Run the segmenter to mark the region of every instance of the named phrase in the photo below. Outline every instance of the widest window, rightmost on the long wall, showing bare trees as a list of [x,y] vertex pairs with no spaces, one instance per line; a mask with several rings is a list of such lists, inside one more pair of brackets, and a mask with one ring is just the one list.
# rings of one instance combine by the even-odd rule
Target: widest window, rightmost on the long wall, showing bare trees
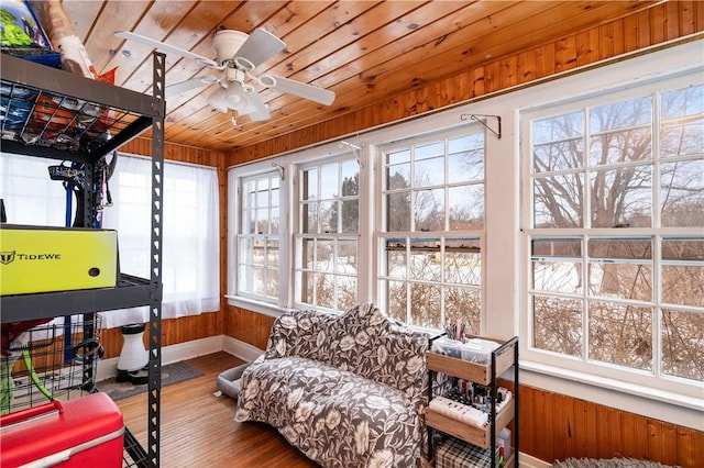
[[529,132],[531,349],[653,388],[704,380],[704,86],[536,111]]

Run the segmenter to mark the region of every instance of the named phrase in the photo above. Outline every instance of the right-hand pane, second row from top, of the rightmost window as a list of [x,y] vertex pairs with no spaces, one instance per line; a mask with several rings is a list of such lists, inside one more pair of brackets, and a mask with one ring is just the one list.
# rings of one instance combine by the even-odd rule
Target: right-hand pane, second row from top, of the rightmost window
[[660,203],[662,226],[704,226],[704,159],[661,164]]

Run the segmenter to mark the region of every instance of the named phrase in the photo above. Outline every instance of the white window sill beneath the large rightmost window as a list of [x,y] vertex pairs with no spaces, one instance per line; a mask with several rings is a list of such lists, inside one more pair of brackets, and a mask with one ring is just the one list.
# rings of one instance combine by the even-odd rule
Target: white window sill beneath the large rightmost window
[[704,399],[520,360],[520,383],[704,431]]

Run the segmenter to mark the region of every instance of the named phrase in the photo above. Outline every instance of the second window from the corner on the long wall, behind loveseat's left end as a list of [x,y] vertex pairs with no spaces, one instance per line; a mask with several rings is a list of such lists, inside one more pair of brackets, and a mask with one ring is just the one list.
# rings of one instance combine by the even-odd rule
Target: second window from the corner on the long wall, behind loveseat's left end
[[358,300],[360,165],[351,155],[301,166],[296,301],[344,311]]

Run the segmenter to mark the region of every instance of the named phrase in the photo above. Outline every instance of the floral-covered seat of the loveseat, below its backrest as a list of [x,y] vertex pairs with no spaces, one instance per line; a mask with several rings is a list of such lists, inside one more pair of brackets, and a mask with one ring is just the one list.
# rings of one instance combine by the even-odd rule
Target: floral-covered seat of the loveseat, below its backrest
[[272,424],[324,467],[414,467],[421,424],[406,393],[302,357],[257,359],[242,376],[238,421]]

